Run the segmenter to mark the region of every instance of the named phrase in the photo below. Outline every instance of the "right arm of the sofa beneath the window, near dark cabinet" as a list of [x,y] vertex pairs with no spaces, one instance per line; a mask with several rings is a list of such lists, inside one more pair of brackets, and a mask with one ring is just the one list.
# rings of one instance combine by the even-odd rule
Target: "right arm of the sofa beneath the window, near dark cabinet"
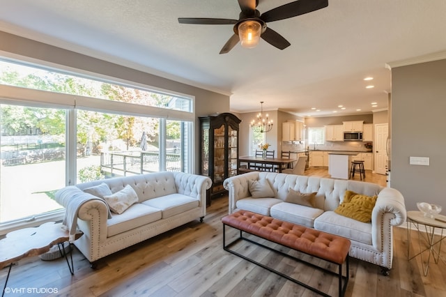
[[210,178],[197,174],[176,172],[175,183],[178,193],[198,199],[199,206],[206,209],[206,190],[212,185]]

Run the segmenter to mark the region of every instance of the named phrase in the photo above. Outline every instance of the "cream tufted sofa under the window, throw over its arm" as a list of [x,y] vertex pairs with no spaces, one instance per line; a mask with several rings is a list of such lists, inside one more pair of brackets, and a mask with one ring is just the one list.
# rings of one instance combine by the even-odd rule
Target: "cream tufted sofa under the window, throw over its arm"
[[[131,185],[139,202],[108,219],[104,200],[83,192],[100,183],[118,192]],[[212,181],[206,176],[183,172],[157,172],[137,176],[109,178],[80,183],[56,192],[56,201],[67,206],[72,197],[89,196],[79,208],[77,226],[84,232],[75,245],[91,264],[94,261],[123,250],[148,238],[174,229],[206,215],[206,190]],[[93,264],[94,266],[94,264]]]

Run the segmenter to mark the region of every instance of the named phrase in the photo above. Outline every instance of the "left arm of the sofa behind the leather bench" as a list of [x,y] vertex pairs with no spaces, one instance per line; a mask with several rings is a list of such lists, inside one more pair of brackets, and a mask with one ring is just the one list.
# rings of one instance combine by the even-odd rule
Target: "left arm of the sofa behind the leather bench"
[[251,193],[248,189],[248,181],[259,179],[259,172],[248,172],[238,176],[226,178],[223,182],[225,190],[228,190],[229,197],[229,214],[237,208],[237,201],[246,197],[250,197]]

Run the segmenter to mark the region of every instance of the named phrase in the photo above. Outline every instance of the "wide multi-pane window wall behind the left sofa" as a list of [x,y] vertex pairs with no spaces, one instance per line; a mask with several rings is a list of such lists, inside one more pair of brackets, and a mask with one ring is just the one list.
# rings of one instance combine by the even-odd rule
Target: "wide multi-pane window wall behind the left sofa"
[[0,66],[0,234],[61,218],[54,192],[65,185],[192,172],[193,98]]

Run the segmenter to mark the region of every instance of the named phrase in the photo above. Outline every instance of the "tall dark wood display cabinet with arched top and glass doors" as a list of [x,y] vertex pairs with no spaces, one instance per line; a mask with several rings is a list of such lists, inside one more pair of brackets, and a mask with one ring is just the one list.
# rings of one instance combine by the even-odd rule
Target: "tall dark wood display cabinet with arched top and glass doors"
[[200,174],[209,176],[213,184],[207,197],[223,195],[223,181],[238,173],[239,124],[237,116],[225,112],[217,116],[200,116]]

